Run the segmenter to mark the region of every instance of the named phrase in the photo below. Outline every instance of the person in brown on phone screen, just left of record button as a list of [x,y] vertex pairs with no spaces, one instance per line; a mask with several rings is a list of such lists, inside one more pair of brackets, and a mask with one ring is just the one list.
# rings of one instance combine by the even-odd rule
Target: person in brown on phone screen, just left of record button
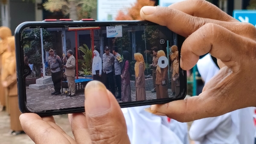
[[157,63],[158,63],[157,51],[158,51],[157,47],[154,46],[152,50],[153,60],[152,60],[152,64],[150,65],[150,67],[153,69],[152,76],[153,76],[153,86],[154,86],[151,92],[157,92],[156,90]]

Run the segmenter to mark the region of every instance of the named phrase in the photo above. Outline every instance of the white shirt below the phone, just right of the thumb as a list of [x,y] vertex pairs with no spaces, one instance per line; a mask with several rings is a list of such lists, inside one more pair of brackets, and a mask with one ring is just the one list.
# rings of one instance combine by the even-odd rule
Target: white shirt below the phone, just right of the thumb
[[145,112],[147,107],[122,108],[131,144],[183,144],[163,123],[166,117]]

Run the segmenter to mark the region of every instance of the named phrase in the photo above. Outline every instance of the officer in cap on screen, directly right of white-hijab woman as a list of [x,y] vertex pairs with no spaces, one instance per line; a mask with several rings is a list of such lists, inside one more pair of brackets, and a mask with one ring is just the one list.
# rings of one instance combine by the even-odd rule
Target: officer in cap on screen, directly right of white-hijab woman
[[113,67],[115,63],[115,57],[110,53],[109,46],[105,46],[105,53],[103,54],[103,73],[105,78],[105,86],[115,95],[115,84],[113,78]]

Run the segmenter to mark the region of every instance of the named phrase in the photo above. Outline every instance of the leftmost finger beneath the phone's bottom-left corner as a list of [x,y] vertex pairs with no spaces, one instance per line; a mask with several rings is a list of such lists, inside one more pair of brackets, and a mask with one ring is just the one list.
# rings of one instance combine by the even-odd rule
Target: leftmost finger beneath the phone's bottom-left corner
[[[49,120],[49,118],[46,118]],[[48,121],[51,122],[52,121]],[[70,144],[75,143],[71,138],[62,135],[49,123],[44,121],[39,115],[34,113],[24,113],[20,115],[20,124],[24,132],[36,144]]]

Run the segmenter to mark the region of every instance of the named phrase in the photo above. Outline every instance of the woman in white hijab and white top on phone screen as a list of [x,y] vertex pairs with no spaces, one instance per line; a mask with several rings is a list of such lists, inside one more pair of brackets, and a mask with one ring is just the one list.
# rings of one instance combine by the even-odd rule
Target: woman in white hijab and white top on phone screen
[[96,50],[93,51],[93,55],[93,80],[100,81],[100,77],[102,75],[102,59],[99,56],[99,52]]

